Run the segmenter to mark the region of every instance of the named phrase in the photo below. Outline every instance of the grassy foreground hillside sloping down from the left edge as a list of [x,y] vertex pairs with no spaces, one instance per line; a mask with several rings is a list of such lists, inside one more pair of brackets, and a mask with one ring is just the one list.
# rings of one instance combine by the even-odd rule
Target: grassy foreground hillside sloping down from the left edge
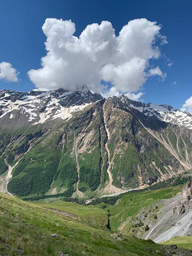
[[[73,204],[73,203],[71,203]],[[108,229],[96,229],[43,207],[0,193],[0,254],[59,256],[77,255],[163,255],[152,241],[128,236],[115,240]],[[50,235],[56,233],[58,237]]]

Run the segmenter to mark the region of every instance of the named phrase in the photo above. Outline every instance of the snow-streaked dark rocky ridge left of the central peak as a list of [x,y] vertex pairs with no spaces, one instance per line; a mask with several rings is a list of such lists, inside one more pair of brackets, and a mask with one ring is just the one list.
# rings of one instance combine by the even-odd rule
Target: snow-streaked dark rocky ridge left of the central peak
[[69,119],[73,112],[101,99],[100,94],[91,93],[87,86],[74,91],[0,90],[0,121],[7,122],[8,118],[15,120],[9,120],[11,126],[13,123],[22,126],[26,122],[35,125],[56,118]]

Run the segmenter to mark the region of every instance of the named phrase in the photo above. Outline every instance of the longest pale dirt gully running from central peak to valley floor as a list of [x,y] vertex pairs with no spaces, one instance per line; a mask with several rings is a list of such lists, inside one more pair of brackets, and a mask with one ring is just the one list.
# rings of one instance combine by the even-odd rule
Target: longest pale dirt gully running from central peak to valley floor
[[[105,101],[106,102],[106,101]],[[112,163],[113,163],[113,159],[111,160],[111,154],[110,154],[110,150],[108,148],[108,142],[110,140],[110,133],[109,133],[109,130],[107,128],[107,124],[106,124],[106,112],[105,112],[105,103],[103,105],[103,114],[104,114],[104,124],[105,124],[105,130],[107,132],[107,136],[108,136],[108,140],[107,142],[105,143],[105,148],[106,148],[106,151],[107,151],[107,154],[108,154],[108,169],[107,169],[107,172],[108,172],[108,176],[109,176],[109,183],[108,185],[105,187],[104,191],[105,192],[109,192],[109,193],[118,193],[118,192],[122,192],[123,190],[122,189],[119,189],[117,188],[116,186],[114,186],[112,183],[113,183],[113,175],[111,173],[111,167],[112,167]]]

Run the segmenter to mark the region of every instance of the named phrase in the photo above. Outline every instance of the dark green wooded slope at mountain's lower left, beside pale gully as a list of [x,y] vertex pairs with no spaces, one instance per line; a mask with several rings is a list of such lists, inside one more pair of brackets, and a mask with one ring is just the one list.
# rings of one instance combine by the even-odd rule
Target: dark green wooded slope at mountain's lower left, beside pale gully
[[8,190],[15,195],[44,194],[52,183],[60,157],[54,138],[41,141],[20,160]]

